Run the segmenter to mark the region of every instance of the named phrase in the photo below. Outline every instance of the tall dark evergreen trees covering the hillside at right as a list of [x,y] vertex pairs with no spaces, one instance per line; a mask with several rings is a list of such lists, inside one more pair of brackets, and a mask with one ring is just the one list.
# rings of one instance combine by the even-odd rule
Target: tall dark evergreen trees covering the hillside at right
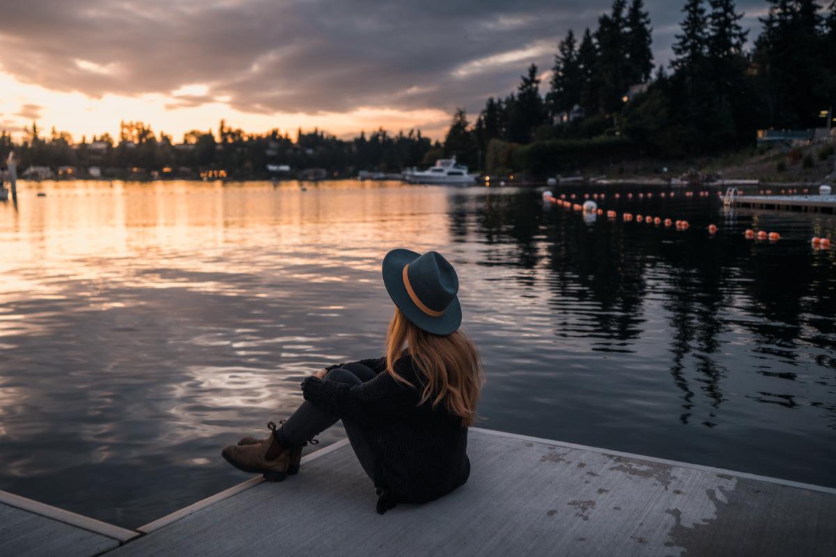
[[749,40],[734,0],[686,0],[674,58],[655,68],[643,0],[614,0],[598,28],[569,30],[543,84],[454,115],[444,151],[488,172],[552,171],[637,155],[687,157],[753,144],[757,129],[823,127],[836,105],[836,0],[767,0]]

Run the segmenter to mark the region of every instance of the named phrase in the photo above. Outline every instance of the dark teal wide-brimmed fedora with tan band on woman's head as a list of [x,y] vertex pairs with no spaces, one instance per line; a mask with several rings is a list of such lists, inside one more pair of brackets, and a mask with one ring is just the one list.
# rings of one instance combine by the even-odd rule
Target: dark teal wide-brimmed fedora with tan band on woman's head
[[416,327],[434,335],[449,335],[461,325],[456,293],[459,277],[437,251],[423,256],[396,249],[383,258],[383,282],[390,298]]

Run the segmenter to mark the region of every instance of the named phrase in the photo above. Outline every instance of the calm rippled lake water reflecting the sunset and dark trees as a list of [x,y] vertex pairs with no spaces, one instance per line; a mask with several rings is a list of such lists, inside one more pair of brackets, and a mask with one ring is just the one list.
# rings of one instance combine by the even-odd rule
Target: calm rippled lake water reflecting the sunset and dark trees
[[398,246],[456,266],[481,427],[836,486],[836,252],[809,244],[833,217],[609,191],[691,230],[512,188],[24,184],[0,204],[0,489],[136,527],[247,479],[224,445],[381,354]]

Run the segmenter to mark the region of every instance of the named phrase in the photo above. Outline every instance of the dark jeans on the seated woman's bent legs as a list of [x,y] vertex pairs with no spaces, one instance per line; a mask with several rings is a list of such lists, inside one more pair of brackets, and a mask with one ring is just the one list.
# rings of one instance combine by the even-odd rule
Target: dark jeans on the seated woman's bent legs
[[[329,381],[359,385],[375,377],[375,372],[369,367],[365,367],[359,363],[348,363],[344,367],[332,369],[325,374],[324,378]],[[322,433],[338,421],[339,418],[334,416],[334,414],[306,400],[285,421],[282,426],[282,431],[291,443],[298,445],[314,437],[314,435]],[[349,436],[351,448],[354,449],[354,454],[357,455],[360,465],[363,466],[366,475],[374,480],[374,474],[372,473],[373,455],[368,443],[365,442],[362,429],[359,428],[357,423],[346,419],[343,420],[343,427],[345,428],[345,433]]]

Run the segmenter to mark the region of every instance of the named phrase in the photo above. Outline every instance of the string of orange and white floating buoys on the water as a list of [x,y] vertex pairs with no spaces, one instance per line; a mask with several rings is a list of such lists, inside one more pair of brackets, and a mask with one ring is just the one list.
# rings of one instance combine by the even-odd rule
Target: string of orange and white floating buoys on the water
[[[794,192],[794,191],[797,191],[797,190],[788,190],[788,193]],[[694,193],[695,192],[693,192],[693,191],[686,191],[684,193],[684,195],[685,195],[685,197],[693,197]],[[762,191],[762,193],[764,193],[764,192]],[[769,194],[772,193],[772,190],[766,190],[766,193],[767,193],[767,195],[769,195]],[[782,193],[783,193],[783,190],[782,190]],[[696,194],[697,194],[698,197],[704,197],[704,198],[709,197],[711,195],[710,192],[708,192],[708,191],[698,191],[698,192],[696,192]],[[628,192],[625,195],[626,195],[628,200],[633,199],[633,193],[632,192]],[[721,196],[722,194],[721,194],[721,192],[718,191],[717,195]],[[620,193],[617,193],[617,194],[613,195],[613,198],[616,199],[616,200],[619,199],[620,197],[621,197]],[[649,193],[645,194],[644,192],[639,192],[639,194],[638,194],[639,199],[645,199],[645,197],[647,199],[652,199],[653,198],[653,193],[649,192]],[[674,191],[670,191],[670,192],[664,192],[663,191],[663,192],[660,193],[660,197],[662,199],[665,199],[665,197],[673,199],[675,197],[675,192]],[[619,214],[618,214],[617,211],[601,209],[601,208],[598,207],[598,205],[594,201],[594,200],[606,200],[606,198],[607,198],[607,195],[604,194],[604,193],[584,194],[584,200],[586,200],[586,201],[584,202],[583,205],[581,205],[579,203],[574,202],[574,200],[578,199],[578,196],[575,195],[575,194],[569,194],[568,199],[567,199],[566,194],[560,194],[560,197],[555,197],[551,191],[546,190],[546,191],[543,192],[543,201],[545,203],[550,204],[550,205],[558,205],[558,207],[563,207],[563,209],[574,210],[574,211],[579,211],[579,212],[582,211],[584,213],[590,213],[590,214],[595,214],[595,215],[599,215],[599,216],[606,215],[607,219],[609,219],[609,220],[618,219]],[[635,220],[635,222],[642,222],[642,223],[646,223],[646,224],[649,224],[649,225],[655,225],[655,226],[665,225],[665,228],[671,228],[672,226],[675,226],[675,229],[677,231],[685,231],[685,230],[688,230],[689,228],[691,228],[691,225],[688,224],[687,220],[671,220],[671,219],[664,219],[663,220],[660,216],[634,215],[633,213],[626,212],[626,211],[621,213],[621,220],[623,220],[624,222],[633,222]],[[713,224],[708,225],[707,230],[708,230],[709,235],[711,235],[711,236],[716,235],[716,233],[720,231],[720,229],[717,227],[717,225],[713,225]],[[773,243],[781,240],[781,235],[779,233],[774,232],[774,231],[767,232],[766,230],[758,230],[756,232],[755,230],[748,229],[748,230],[743,232],[743,237],[745,237],[747,240],[770,241],[770,242],[773,242]],[[830,240],[828,238],[814,237],[813,241],[811,243],[813,245],[813,249],[815,249],[815,250],[829,250],[830,249]]]

